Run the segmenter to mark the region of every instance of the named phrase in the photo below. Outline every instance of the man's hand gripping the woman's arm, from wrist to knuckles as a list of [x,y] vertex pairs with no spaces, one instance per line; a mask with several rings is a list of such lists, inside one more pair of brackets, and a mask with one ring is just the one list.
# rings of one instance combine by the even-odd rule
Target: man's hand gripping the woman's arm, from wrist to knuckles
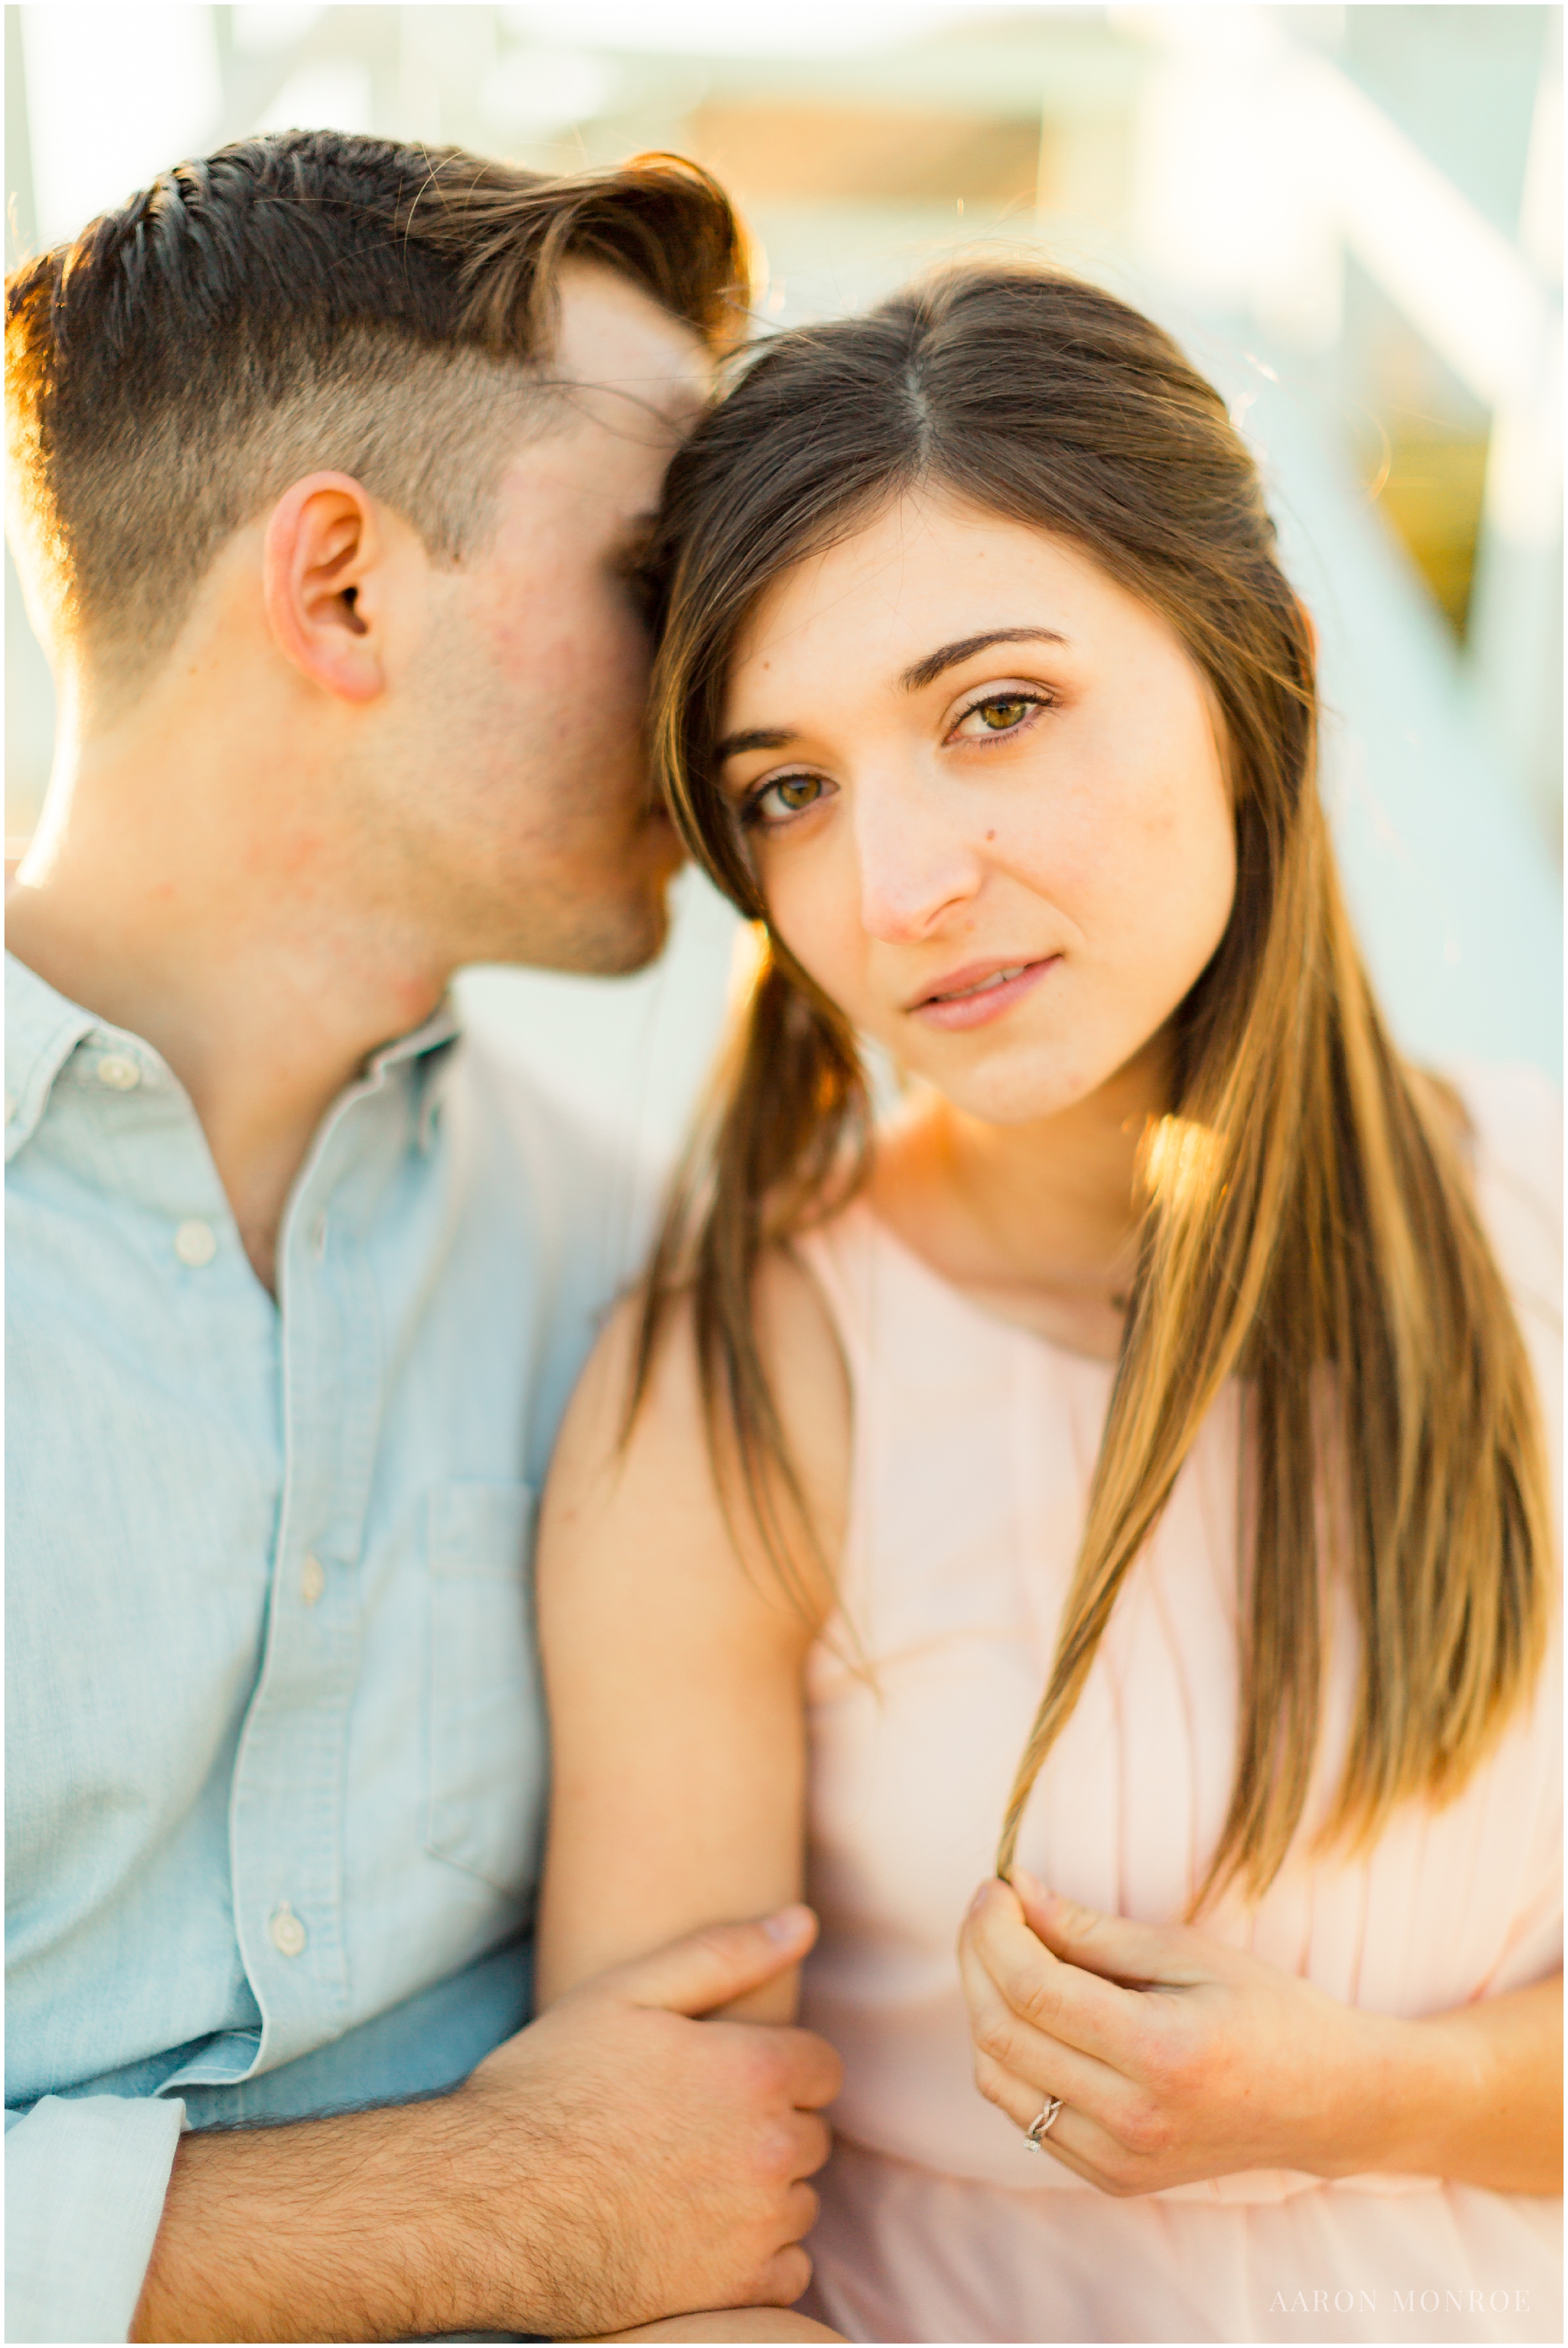
[[702,2017],[798,1965],[815,1930],[793,1907],[596,1975],[458,2090],[453,2120],[486,2144],[453,2177],[460,2263],[493,2278],[495,2327],[582,2336],[800,2296],[843,2066],[810,2031]]

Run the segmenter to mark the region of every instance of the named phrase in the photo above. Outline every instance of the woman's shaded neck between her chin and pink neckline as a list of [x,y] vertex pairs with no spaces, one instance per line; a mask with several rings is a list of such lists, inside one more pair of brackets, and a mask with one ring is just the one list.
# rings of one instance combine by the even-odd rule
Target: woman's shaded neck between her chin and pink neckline
[[878,1214],[1002,1320],[1115,1357],[1134,1275],[1138,1148],[1169,1106],[1169,1038],[1084,1101],[986,1125],[925,1097],[878,1148]]

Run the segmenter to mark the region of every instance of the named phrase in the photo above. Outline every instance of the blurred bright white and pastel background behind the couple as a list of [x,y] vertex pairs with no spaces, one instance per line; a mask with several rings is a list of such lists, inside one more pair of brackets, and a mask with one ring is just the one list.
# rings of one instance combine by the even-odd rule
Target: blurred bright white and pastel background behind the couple
[[[1561,9],[7,7],[9,258],[258,129],[540,169],[674,148],[765,251],[758,331],[1045,251],[1225,390],[1322,634],[1324,791],[1425,1057],[1561,1071]],[[7,559],[7,834],[52,688]],[[472,1017],[662,1158],[735,925],[692,876],[631,981],[474,972]]]

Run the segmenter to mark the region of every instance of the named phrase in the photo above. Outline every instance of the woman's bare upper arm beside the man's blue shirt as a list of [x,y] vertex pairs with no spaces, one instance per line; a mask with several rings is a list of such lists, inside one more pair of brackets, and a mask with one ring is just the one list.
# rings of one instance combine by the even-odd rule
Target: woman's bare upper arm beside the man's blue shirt
[[[805,1719],[800,1669],[831,1592],[796,1559],[803,1613],[725,1524],[709,1463],[695,1348],[676,1315],[620,1449],[634,1315],[601,1338],[573,1397],[545,1496],[540,1641],[552,1808],[538,1993],[681,1932],[800,1897]],[[850,1392],[822,1298],[786,1259],[758,1284],[758,1336],[824,1557],[838,1561]],[[739,1538],[739,1552],[737,1552]],[[796,1975],[735,2005],[789,2022]]]

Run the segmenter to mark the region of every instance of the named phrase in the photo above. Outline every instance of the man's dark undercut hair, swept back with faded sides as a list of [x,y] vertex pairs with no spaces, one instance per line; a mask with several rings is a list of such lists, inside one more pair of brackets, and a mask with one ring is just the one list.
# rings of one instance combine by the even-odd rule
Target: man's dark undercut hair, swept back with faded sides
[[547,178],[343,131],[164,171],[7,279],[12,528],[94,690],[134,693],[218,547],[305,472],[347,472],[441,564],[486,535],[549,411],[566,261],[711,348],[744,322],[739,223],[641,155]]

